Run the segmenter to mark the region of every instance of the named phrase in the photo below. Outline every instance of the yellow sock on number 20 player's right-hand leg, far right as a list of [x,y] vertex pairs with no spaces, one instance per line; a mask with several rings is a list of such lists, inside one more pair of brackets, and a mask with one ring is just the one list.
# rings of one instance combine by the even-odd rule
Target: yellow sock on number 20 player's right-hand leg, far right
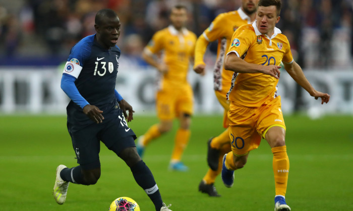
[[287,180],[289,172],[289,159],[286,146],[273,147],[273,173],[276,195],[285,196],[287,190]]

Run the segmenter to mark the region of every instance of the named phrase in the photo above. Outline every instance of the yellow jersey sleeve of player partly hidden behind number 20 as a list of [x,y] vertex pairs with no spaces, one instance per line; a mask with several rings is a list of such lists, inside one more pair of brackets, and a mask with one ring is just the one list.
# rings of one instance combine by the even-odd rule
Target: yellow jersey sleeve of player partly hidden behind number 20
[[221,37],[224,37],[224,23],[222,23],[224,14],[219,14],[210,24],[210,26],[202,33],[202,36],[208,42],[213,42]]

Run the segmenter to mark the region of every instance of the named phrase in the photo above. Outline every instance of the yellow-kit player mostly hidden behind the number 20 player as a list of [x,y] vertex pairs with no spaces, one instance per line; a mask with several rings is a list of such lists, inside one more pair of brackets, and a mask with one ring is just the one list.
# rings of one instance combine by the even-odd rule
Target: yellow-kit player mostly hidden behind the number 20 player
[[201,180],[199,191],[210,196],[220,196],[214,186],[214,181],[222,170],[224,153],[230,151],[229,122],[227,117],[229,100],[226,99],[226,93],[229,90],[233,72],[224,69],[224,56],[230,45],[233,32],[240,26],[251,24],[255,20],[257,3],[258,0],[242,0],[241,8],[218,15],[210,27],[196,41],[194,71],[204,73],[206,65],[203,61],[203,56],[207,45],[218,40],[217,59],[213,70],[213,88],[218,101],[224,108],[223,127],[226,128],[220,135],[212,137],[207,142],[207,162],[210,169]]

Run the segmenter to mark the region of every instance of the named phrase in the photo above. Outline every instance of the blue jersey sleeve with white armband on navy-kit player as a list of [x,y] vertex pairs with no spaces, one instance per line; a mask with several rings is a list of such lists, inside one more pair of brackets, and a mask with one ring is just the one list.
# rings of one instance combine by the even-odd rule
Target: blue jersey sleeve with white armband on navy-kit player
[[63,73],[78,78],[86,58],[91,54],[90,46],[81,40],[70,51]]

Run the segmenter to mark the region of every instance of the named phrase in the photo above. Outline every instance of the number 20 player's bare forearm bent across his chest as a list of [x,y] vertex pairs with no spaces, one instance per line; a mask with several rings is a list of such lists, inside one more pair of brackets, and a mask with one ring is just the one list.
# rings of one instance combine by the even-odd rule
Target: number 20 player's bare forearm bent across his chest
[[228,53],[224,59],[224,69],[230,70],[233,72],[238,72],[238,73],[260,72],[266,75],[271,75],[276,79],[279,79],[279,76],[280,76],[279,68],[281,68],[281,66],[277,66],[277,65],[265,66],[265,65],[248,63],[243,59],[239,58],[238,55],[233,51]]

